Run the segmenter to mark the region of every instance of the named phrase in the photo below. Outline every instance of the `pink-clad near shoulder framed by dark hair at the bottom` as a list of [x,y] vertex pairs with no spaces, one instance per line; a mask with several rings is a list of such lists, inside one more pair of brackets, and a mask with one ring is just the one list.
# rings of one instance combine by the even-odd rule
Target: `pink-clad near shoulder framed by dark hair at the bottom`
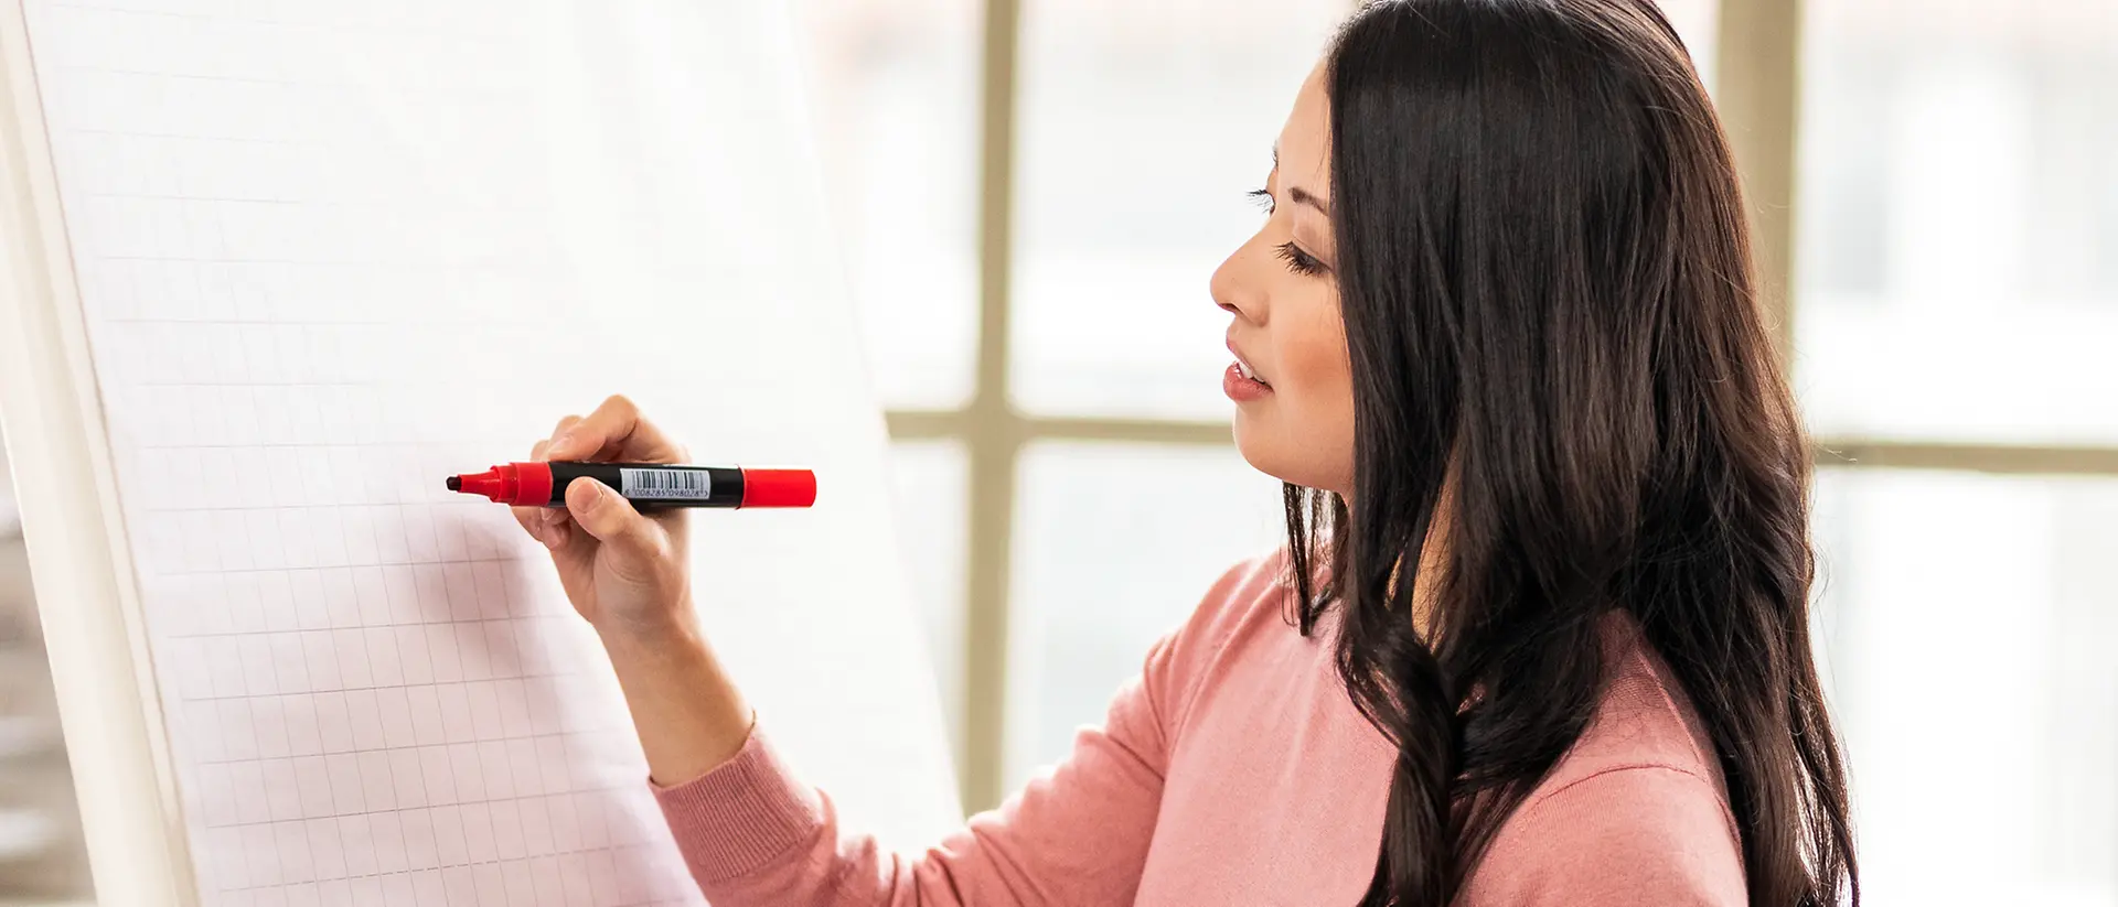
[[1747,903],[1720,763],[1629,617],[1605,624],[1605,677],[1597,717],[1500,827],[1461,905]]

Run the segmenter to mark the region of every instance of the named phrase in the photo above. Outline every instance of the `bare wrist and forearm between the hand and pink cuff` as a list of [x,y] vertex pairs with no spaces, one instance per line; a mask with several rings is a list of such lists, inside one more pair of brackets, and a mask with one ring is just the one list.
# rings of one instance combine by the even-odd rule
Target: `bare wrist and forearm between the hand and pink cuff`
[[714,658],[686,615],[676,626],[599,630],[625,689],[648,774],[671,786],[699,778],[741,753],[752,712],[743,691]]

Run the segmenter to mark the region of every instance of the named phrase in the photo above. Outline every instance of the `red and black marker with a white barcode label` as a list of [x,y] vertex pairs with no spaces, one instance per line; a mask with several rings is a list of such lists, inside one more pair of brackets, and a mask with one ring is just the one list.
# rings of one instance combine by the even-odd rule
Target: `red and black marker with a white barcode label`
[[809,469],[739,469],[669,463],[504,463],[449,476],[449,490],[485,495],[517,507],[566,507],[576,478],[604,482],[627,501],[659,507],[807,507],[815,503]]

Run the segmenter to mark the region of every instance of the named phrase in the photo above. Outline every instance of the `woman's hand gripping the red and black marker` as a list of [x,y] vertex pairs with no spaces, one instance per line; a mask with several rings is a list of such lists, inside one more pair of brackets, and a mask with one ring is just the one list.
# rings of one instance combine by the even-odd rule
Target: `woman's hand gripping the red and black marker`
[[[604,400],[566,417],[530,448],[536,461],[682,463],[684,448],[631,400]],[[602,482],[566,488],[566,507],[515,507],[515,520],[551,550],[559,584],[597,634],[661,638],[688,626],[690,567],[684,510],[652,516]]]

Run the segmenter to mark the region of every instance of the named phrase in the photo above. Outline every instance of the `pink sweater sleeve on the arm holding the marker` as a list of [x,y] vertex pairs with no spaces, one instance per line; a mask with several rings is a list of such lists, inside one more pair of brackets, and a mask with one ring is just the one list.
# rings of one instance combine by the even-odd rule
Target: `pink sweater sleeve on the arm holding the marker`
[[1178,710],[1209,658],[1224,577],[1184,628],[1156,643],[1072,755],[1004,806],[921,854],[892,854],[839,827],[760,732],[705,776],[657,789],[663,816],[714,907],[1044,907],[1131,903],[1161,808]]

